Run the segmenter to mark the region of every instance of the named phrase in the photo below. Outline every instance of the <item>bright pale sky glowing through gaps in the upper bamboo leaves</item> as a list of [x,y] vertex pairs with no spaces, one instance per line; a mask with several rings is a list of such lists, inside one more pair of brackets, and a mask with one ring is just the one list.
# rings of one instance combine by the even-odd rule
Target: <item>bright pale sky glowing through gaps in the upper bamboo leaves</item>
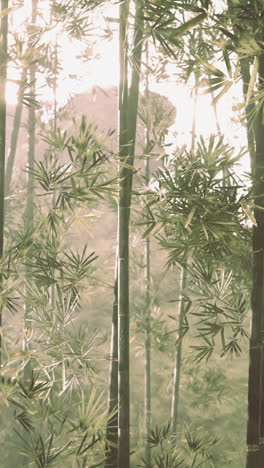
[[[30,15],[31,0],[26,0],[24,7],[17,10],[13,14],[13,24],[16,30],[19,28],[23,30],[24,22],[23,17]],[[42,11],[45,16],[45,0],[40,2]],[[47,10],[48,11],[48,10]],[[103,10],[104,16],[117,17],[117,6],[108,5]],[[46,18],[48,20],[48,18]],[[102,21],[102,14],[96,13],[93,16],[93,29],[99,33],[100,22]],[[116,25],[114,25],[115,29]],[[50,33],[46,33],[46,40],[52,41],[54,44],[57,42],[60,45],[60,56],[62,61],[63,70],[60,72],[60,78],[57,89],[58,104],[63,106],[68,101],[69,97],[89,92],[93,86],[111,87],[118,85],[118,35],[117,32],[113,33],[111,41],[103,39],[96,40],[96,47],[93,50],[94,55],[99,55],[99,59],[93,56],[90,60],[83,62],[78,59],[86,49],[87,44],[82,44],[77,40],[69,40],[67,34],[61,31],[60,26]],[[193,98],[191,96],[192,89],[190,86],[177,85],[173,78],[174,66],[170,65],[169,74],[170,78],[166,82],[155,83],[151,80],[150,88],[160,94],[165,95],[175,105],[177,110],[177,117],[175,125],[171,128],[169,138],[175,139],[173,132],[177,132],[177,145],[187,144],[191,142],[191,128],[193,116]],[[11,78],[19,78],[19,73],[14,73],[10,70]],[[45,85],[45,78],[38,75],[38,92],[39,97],[43,101],[52,102],[53,91]],[[16,103],[17,87],[13,83],[8,83],[7,86],[7,100],[10,104]],[[218,114],[222,132],[226,135],[227,139],[237,149],[246,144],[245,130],[239,128],[238,125],[230,122],[230,116],[233,115],[232,106],[234,99],[242,99],[241,84],[237,84],[224,95],[218,102]],[[197,135],[202,134],[208,136],[211,133],[216,133],[216,123],[213,108],[211,105],[211,97],[203,95],[198,97],[197,110],[196,110],[196,132]],[[249,169],[248,158],[243,159],[243,170]]]

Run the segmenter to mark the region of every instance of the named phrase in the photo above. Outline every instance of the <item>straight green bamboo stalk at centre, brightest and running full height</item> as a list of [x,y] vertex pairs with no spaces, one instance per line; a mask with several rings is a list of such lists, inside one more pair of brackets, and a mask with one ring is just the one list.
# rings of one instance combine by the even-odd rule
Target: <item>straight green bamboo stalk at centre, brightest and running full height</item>
[[[129,1],[119,6],[119,158],[128,158],[128,13]],[[119,171],[118,203],[118,466],[130,466],[129,395],[129,187],[127,170]]]

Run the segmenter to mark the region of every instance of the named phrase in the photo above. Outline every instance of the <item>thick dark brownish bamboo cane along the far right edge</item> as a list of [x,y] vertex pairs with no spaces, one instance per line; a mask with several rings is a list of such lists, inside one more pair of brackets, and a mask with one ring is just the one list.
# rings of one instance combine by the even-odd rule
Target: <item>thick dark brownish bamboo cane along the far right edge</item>
[[[264,54],[259,57],[259,88],[264,89]],[[254,196],[264,208],[264,124],[263,103],[256,119],[256,155],[253,166]],[[255,208],[253,226],[252,324],[249,349],[247,468],[263,467],[262,362],[264,311],[264,212]]]

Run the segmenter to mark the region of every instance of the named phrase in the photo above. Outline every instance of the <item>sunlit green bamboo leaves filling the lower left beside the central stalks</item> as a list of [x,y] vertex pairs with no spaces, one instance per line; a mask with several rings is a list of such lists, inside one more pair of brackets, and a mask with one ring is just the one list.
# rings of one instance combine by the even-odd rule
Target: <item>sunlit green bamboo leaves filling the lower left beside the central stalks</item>
[[2,388],[2,401],[14,408],[19,453],[38,467],[101,464],[111,417],[87,384],[105,337],[76,324],[97,256],[87,245],[69,248],[66,239],[76,208],[89,209],[114,186],[106,178],[104,144],[85,118],[75,127],[71,136],[60,129],[44,135],[46,158],[28,168],[37,193],[34,225],[9,238],[2,258],[4,310],[19,317],[27,307],[15,347],[6,339],[3,375],[15,380]]

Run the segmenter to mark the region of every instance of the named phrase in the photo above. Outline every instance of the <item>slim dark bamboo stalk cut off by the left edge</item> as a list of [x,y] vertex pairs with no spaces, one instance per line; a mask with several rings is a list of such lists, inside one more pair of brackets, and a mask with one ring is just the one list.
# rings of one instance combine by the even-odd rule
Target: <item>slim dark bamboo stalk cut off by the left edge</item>
[[[1,0],[1,13],[8,8],[8,0]],[[6,152],[6,77],[7,77],[7,35],[8,15],[1,17],[1,58],[0,58],[0,261],[4,253],[4,196],[5,196],[5,152]],[[0,272],[0,291],[3,276]],[[3,303],[0,301],[0,373],[2,366]]]

